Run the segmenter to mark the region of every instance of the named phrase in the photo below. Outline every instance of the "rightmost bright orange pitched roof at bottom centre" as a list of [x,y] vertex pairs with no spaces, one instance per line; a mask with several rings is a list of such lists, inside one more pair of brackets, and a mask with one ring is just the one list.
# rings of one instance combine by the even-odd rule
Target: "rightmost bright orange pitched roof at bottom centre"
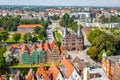
[[69,78],[74,70],[73,65],[67,59],[64,58],[62,60],[62,66],[64,66],[64,68],[66,69],[65,72],[66,78]]

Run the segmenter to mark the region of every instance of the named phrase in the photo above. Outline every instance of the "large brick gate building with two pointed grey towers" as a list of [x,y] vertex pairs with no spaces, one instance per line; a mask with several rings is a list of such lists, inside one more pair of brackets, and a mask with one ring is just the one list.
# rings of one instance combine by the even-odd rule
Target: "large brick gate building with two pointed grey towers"
[[67,28],[65,28],[61,46],[67,51],[84,50],[84,36],[80,27],[78,27],[77,35],[69,35]]

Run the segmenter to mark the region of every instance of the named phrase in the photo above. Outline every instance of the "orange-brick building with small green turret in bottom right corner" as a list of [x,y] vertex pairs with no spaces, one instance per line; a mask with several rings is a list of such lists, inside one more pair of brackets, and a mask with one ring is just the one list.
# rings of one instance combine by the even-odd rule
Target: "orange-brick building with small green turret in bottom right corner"
[[120,55],[107,56],[104,52],[102,55],[102,67],[109,80],[120,80]]

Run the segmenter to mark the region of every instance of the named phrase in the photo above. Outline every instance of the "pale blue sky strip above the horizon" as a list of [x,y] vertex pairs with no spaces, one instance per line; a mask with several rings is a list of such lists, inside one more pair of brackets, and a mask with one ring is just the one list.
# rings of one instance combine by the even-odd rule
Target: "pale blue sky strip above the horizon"
[[120,6],[120,0],[0,0],[0,5]]

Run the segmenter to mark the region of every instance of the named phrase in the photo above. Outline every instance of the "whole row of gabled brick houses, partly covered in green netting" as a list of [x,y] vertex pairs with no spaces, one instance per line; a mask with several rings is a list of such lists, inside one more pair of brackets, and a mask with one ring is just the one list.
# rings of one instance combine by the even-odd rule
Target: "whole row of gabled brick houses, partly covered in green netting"
[[[66,56],[64,50],[60,50],[55,41],[40,43],[39,46],[33,44],[31,47],[24,44],[20,51],[18,60],[20,64],[52,63],[60,62]],[[61,58],[62,57],[62,58]]]

